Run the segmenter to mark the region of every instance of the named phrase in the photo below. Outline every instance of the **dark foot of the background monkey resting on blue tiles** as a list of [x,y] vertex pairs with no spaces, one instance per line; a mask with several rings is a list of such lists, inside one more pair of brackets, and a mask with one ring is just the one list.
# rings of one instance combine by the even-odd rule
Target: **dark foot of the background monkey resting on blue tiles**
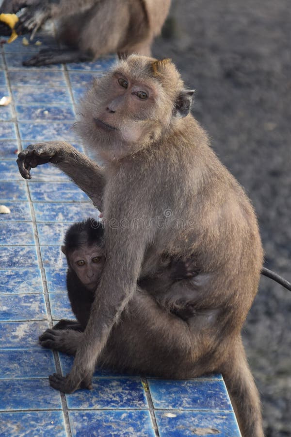
[[38,54],[28,61],[24,61],[25,67],[50,64],[65,64],[67,62],[87,62],[92,61],[93,57],[80,50],[59,49],[59,50],[40,50]]

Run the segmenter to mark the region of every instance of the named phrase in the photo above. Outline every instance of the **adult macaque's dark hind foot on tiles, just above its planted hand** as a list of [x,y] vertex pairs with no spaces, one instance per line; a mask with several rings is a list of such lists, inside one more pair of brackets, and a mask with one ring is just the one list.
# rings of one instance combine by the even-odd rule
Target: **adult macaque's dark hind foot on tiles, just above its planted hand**
[[80,331],[74,329],[47,329],[39,336],[39,342],[43,348],[75,355],[82,341],[82,335]]

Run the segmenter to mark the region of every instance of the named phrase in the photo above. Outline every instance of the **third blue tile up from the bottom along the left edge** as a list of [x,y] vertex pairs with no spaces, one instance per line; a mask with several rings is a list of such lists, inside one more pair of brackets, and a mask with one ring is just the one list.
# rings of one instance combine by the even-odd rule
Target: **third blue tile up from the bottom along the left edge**
[[39,350],[0,350],[0,379],[46,378],[56,372],[53,353],[39,347]]

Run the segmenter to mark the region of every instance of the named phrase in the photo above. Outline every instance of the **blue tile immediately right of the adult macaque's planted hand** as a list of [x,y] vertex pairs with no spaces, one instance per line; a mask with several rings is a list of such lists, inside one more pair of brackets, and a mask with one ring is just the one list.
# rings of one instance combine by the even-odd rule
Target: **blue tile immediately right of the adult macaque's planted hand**
[[93,378],[93,389],[66,395],[69,409],[148,408],[140,378]]

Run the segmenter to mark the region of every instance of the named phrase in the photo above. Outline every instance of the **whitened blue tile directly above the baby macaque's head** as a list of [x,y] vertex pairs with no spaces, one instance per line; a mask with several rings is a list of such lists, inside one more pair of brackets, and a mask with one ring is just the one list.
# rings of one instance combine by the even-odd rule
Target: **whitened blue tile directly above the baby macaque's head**
[[82,221],[88,217],[98,218],[97,208],[90,202],[52,203],[35,202],[33,204],[36,221]]

